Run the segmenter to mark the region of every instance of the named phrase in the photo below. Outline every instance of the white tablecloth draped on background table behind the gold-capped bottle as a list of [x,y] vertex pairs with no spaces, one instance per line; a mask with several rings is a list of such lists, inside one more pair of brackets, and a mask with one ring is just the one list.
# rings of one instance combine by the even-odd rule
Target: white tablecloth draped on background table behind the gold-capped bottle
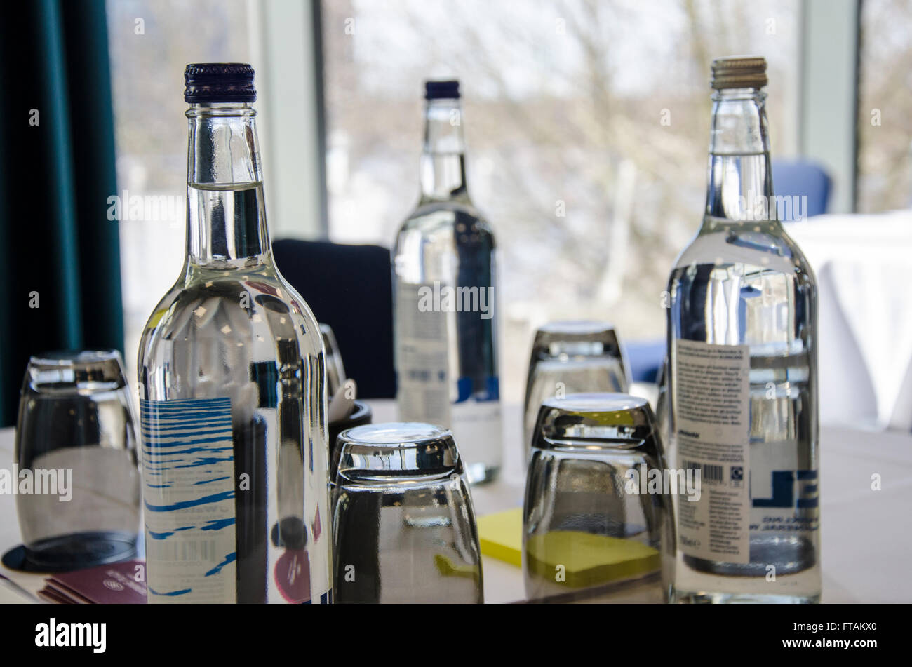
[[821,418],[912,430],[912,210],[786,225],[820,289]]

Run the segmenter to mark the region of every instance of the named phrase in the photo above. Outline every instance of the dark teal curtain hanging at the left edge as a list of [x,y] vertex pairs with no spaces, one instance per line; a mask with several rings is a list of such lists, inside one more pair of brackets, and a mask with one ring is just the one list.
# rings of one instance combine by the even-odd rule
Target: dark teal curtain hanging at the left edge
[[0,426],[11,426],[29,355],[123,352],[103,0],[0,8],[0,128]]

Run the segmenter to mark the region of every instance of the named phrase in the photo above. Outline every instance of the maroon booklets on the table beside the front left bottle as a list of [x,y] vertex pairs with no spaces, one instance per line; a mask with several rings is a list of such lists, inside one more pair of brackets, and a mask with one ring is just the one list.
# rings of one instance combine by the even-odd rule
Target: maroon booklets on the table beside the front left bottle
[[[137,566],[141,566],[140,569]],[[38,597],[59,604],[145,604],[146,581],[141,560],[124,560],[48,577]]]

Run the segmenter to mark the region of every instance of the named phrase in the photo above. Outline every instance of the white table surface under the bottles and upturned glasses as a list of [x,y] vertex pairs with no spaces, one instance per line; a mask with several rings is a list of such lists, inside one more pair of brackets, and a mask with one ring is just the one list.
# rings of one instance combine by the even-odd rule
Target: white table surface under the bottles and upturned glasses
[[[371,401],[374,421],[395,418],[392,401]],[[472,487],[476,514],[481,516],[523,503],[518,406],[504,406],[503,477]],[[0,469],[13,467],[13,429],[0,429]],[[515,451],[514,451],[515,450]],[[872,489],[879,475],[881,490]],[[822,563],[824,602],[910,602],[912,577],[912,435],[825,427],[821,437]],[[20,541],[16,497],[0,494],[0,553]],[[487,602],[523,600],[519,568],[483,557]],[[45,575],[7,570],[0,573],[30,591],[44,585]],[[0,586],[0,602],[26,601]]]

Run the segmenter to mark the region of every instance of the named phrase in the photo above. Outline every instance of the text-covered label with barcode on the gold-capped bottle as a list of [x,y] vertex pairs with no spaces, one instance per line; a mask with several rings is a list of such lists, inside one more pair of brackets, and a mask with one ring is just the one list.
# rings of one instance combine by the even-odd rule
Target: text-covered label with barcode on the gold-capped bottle
[[674,344],[679,466],[700,470],[699,499],[678,503],[679,548],[749,563],[750,345]]

